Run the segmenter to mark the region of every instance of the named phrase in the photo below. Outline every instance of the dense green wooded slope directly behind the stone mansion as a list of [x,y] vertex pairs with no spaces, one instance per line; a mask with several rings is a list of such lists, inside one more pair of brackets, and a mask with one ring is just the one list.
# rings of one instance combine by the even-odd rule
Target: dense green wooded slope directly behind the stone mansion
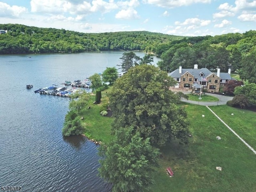
[[198,36],[174,40],[160,44],[156,54],[162,60],[158,66],[171,72],[179,66],[182,68],[208,68],[221,72],[239,71],[243,80],[256,82],[256,31],[243,34],[229,33],[218,36]]

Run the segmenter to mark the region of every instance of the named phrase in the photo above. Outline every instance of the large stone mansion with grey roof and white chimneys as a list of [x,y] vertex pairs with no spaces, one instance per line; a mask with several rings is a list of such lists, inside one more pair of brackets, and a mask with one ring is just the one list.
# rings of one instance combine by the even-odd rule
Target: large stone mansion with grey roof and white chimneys
[[182,66],[180,66],[168,75],[178,82],[175,88],[185,88],[199,92],[202,86],[202,89],[204,88],[208,92],[219,92],[220,86],[232,79],[230,72],[231,69],[228,69],[227,73],[221,73],[218,68],[217,73],[214,73],[207,68],[198,69],[198,65],[195,64],[194,69],[182,69]]

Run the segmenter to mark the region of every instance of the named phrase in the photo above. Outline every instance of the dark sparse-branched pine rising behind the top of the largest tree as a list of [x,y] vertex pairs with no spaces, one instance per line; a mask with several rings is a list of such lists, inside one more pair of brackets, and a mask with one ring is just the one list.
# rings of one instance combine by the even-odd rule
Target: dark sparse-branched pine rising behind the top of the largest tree
[[120,58],[121,64],[117,65],[120,66],[122,72],[127,72],[131,67],[138,65],[141,58],[137,56],[134,52],[124,52],[122,57]]

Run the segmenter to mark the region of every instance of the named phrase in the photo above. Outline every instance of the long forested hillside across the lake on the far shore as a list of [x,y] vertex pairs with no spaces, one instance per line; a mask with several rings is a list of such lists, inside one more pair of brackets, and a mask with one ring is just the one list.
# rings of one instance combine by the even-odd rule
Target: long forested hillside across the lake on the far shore
[[80,33],[65,29],[38,28],[21,24],[0,24],[0,54],[55,53],[106,50],[156,52],[159,44],[183,37],[137,32]]

